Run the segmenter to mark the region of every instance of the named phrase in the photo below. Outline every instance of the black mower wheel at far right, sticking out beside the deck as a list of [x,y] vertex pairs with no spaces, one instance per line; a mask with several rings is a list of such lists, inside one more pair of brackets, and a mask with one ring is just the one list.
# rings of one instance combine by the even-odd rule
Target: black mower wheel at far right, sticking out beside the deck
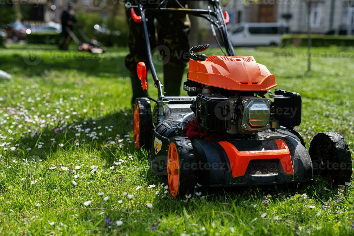
[[340,134],[333,132],[316,134],[311,141],[309,154],[313,165],[318,164],[318,167],[314,166],[314,175],[330,179],[333,185],[350,182],[352,157],[348,144]]

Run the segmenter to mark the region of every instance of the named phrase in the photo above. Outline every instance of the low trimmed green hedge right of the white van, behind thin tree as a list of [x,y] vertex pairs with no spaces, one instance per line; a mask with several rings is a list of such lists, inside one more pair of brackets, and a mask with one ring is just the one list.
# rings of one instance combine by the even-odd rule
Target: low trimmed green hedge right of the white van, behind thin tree
[[[294,45],[307,46],[308,35],[307,34],[286,34],[282,36],[281,46]],[[354,36],[347,35],[312,35],[312,46],[314,47],[328,47],[331,45],[337,46],[354,46]]]

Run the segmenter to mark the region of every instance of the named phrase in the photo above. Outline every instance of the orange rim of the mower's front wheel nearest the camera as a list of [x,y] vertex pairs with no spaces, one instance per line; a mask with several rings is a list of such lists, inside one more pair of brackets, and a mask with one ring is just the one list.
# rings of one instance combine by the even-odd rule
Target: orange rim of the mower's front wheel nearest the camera
[[179,188],[179,160],[178,150],[175,143],[169,146],[167,157],[167,178],[169,180],[169,188],[173,197],[177,196]]

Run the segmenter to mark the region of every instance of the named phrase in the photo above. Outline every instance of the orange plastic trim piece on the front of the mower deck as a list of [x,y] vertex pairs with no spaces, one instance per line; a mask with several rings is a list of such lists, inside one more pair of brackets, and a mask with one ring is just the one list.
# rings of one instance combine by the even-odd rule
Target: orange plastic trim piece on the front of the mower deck
[[279,159],[286,174],[294,174],[291,162],[290,151],[286,143],[281,139],[274,139],[278,150],[266,151],[239,151],[234,145],[227,141],[219,144],[227,153],[230,161],[232,176],[234,178],[244,176],[251,160]]

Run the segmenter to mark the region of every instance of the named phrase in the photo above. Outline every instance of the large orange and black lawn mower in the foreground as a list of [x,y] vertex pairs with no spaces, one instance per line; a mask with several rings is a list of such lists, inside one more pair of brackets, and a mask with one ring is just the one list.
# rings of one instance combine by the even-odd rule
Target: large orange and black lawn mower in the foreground
[[[196,186],[226,187],[310,182],[315,176],[334,185],[350,182],[352,159],[338,133],[318,133],[309,150],[294,127],[301,123],[301,96],[276,89],[274,74],[252,56],[236,56],[229,40],[227,12],[218,1],[208,9],[146,8],[126,4],[141,23],[148,61],[158,98],[137,98],[133,111],[134,141],[149,150],[154,173],[167,174],[173,197],[193,193]],[[137,9],[138,16],[135,13]],[[209,45],[190,48],[187,97],[162,92],[150,49],[146,12],[188,13],[207,19],[225,53],[196,54]],[[221,50],[223,48],[220,46]],[[224,51],[223,51],[224,52]],[[145,62],[137,64],[142,89],[147,90]],[[168,79],[168,78],[165,78]],[[153,104],[153,105],[152,105]]]

